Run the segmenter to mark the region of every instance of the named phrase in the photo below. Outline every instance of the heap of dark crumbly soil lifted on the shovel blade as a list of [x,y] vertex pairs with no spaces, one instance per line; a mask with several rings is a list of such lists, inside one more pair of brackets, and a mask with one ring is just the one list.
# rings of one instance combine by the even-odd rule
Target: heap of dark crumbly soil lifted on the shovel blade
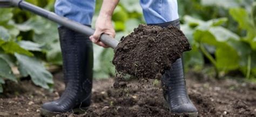
[[161,77],[159,74],[189,50],[187,38],[177,27],[140,24],[120,40],[112,62],[118,72],[153,79]]

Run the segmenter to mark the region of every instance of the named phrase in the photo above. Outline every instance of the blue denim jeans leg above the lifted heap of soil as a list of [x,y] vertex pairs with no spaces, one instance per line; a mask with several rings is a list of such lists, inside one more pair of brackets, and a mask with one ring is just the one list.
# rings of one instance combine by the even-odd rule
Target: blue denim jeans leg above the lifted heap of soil
[[171,22],[179,18],[177,0],[140,0],[147,24]]

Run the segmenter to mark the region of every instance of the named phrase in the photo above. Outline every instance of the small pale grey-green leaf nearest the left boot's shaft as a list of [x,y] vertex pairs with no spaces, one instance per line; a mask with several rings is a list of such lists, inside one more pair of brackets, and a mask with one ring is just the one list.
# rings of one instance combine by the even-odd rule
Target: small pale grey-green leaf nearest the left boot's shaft
[[41,45],[37,43],[33,43],[28,40],[22,40],[18,42],[19,46],[21,46],[23,49],[30,50],[30,51],[42,51]]

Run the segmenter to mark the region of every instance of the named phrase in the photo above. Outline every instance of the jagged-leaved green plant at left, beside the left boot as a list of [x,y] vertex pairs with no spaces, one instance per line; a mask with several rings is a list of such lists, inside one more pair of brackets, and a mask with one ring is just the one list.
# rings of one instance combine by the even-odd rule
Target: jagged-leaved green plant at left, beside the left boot
[[23,39],[21,25],[12,19],[13,9],[1,9],[0,12],[0,93],[3,92],[5,79],[18,81],[12,72],[15,67],[18,67],[22,77],[30,75],[36,85],[49,89],[53,84],[52,75],[36,56],[37,52],[44,53],[43,45]]

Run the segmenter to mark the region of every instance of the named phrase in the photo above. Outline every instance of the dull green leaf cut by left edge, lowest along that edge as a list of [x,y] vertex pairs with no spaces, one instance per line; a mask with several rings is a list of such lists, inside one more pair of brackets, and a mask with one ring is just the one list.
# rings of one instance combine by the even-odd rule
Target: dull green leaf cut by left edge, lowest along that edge
[[15,75],[11,71],[11,67],[2,58],[0,58],[0,77],[17,82]]

